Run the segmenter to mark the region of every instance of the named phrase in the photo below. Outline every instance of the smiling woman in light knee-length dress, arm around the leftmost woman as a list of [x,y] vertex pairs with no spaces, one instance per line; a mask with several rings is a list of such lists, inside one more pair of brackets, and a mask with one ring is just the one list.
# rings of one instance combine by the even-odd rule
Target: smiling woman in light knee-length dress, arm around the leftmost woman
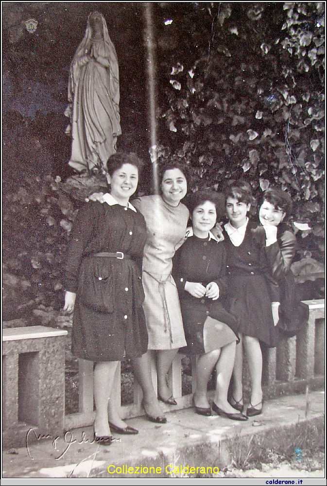
[[[147,239],[143,254],[143,309],[149,335],[148,350],[156,350],[158,399],[175,405],[166,375],[179,347],[186,346],[176,284],[172,278],[172,257],[184,242],[188,209],[180,202],[187,192],[185,174],[178,164],[161,168],[161,195],[133,201],[143,214]],[[150,352],[141,358],[150,369]],[[150,374],[149,374],[150,376]]]

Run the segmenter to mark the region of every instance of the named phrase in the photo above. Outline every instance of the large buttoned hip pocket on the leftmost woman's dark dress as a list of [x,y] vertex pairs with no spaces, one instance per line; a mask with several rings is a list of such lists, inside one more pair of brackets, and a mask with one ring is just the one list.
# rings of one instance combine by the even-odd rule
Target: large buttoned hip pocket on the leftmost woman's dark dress
[[114,312],[114,282],[111,261],[108,258],[87,258],[83,260],[78,294],[81,302],[93,311]]

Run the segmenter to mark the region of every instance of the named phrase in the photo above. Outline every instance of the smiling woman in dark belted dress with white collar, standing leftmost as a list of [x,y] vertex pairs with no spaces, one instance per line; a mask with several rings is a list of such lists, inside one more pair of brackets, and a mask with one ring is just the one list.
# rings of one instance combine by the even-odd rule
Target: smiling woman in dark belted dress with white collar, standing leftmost
[[64,309],[74,310],[72,353],[96,363],[94,434],[106,445],[112,440],[109,424],[116,432],[138,433],[120,419],[115,391],[119,362],[128,357],[137,363],[148,346],[141,283],[146,225],[129,203],[141,165],[134,154],[109,159],[110,194],[103,204],[79,210],[66,264]]

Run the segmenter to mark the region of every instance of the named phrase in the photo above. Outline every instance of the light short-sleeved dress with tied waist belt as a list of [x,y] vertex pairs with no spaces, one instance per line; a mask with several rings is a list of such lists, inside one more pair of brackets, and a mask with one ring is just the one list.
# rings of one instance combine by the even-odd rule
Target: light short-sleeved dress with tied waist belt
[[147,231],[142,283],[148,349],[186,346],[172,257],[184,241],[189,210],[182,203],[170,206],[158,195],[139,197],[133,205],[143,214]]

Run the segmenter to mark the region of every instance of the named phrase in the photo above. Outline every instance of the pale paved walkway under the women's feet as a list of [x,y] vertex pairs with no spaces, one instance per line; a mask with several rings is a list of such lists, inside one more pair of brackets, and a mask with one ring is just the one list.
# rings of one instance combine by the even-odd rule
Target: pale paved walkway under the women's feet
[[293,441],[299,437],[299,427],[321,423],[324,412],[325,393],[316,391],[309,394],[309,406],[305,395],[266,401],[263,413],[247,422],[201,417],[193,409],[167,414],[164,425],[133,418],[127,423],[139,434],[115,434],[107,447],[92,442],[91,427],[55,440],[40,437],[36,443],[30,440],[31,431],[27,447],[4,451],[3,478],[195,477],[211,473],[210,468],[214,474],[230,464],[231,451],[244,444],[253,449],[253,444],[260,447],[260,441],[263,445],[268,440],[271,447],[283,443],[285,448],[298,447]]

